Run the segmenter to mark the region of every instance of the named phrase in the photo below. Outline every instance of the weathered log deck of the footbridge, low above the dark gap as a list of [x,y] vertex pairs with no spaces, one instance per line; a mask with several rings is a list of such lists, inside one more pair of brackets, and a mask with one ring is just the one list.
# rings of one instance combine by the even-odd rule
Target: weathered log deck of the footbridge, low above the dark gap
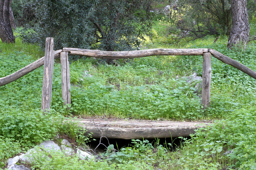
[[154,139],[176,138],[189,136],[195,130],[210,123],[153,121],[153,120],[112,120],[103,119],[78,119],[79,126],[87,130],[94,138],[106,136],[116,139]]

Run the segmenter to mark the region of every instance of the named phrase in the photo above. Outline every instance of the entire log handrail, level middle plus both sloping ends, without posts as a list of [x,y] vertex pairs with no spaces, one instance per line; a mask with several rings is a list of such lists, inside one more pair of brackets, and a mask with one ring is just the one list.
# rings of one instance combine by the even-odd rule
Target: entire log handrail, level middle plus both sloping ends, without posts
[[[71,55],[82,55],[87,57],[94,58],[109,58],[109,59],[122,59],[122,58],[138,58],[146,57],[152,55],[203,55],[205,52],[210,52],[215,58],[220,61],[229,64],[242,72],[248,74],[249,76],[256,79],[256,72],[243,64],[235,61],[226,55],[219,53],[213,49],[207,48],[197,48],[197,49],[149,49],[149,50],[137,50],[137,51],[100,51],[100,50],[85,50],[79,48],[63,48],[63,50],[57,50],[54,53],[54,59],[60,57],[60,52],[66,51]],[[44,57],[38,59],[37,61],[25,66],[24,68],[18,70],[17,72],[10,74],[6,77],[0,78],[0,86],[6,85],[10,82],[13,82],[22,76],[32,72],[40,66],[43,66]]]

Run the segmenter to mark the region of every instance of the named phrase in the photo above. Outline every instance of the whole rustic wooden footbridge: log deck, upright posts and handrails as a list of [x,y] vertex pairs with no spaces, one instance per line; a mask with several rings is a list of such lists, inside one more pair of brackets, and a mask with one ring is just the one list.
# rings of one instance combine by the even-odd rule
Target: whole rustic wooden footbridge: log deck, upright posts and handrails
[[[123,59],[123,58],[138,58],[155,55],[202,55],[203,56],[203,72],[202,72],[202,105],[204,109],[210,106],[210,85],[211,85],[211,56],[217,58],[223,63],[229,64],[249,76],[256,79],[256,72],[238,61],[219,53],[216,50],[208,48],[197,49],[148,49],[137,51],[100,51],[86,50],[78,48],[63,48],[62,50],[53,50],[53,38],[46,38],[45,56],[37,61],[25,66],[17,72],[0,78],[0,86],[13,82],[22,76],[32,72],[40,66],[44,65],[43,75],[43,91],[42,91],[42,111],[49,111],[51,106],[51,88],[54,59],[60,57],[61,61],[61,79],[62,79],[62,98],[64,105],[71,104],[70,93],[70,73],[68,55],[80,55],[86,57],[94,57],[101,59]],[[201,123],[183,123],[183,122],[168,122],[168,121],[114,121],[105,122],[102,120],[96,121],[97,124],[90,124],[91,120],[80,120],[81,126],[84,126],[88,131],[93,131],[95,137],[99,135],[108,136],[109,138],[126,139],[127,136],[132,138],[151,138],[151,137],[177,137],[188,136],[194,133],[194,130],[204,125]],[[94,121],[95,122],[95,121]],[[100,123],[99,123],[100,122]],[[94,130],[93,130],[94,129]],[[112,132],[110,134],[110,132]],[[132,136],[132,134],[134,134]],[[125,137],[126,136],[126,137]],[[151,137],[150,137],[151,136]]]

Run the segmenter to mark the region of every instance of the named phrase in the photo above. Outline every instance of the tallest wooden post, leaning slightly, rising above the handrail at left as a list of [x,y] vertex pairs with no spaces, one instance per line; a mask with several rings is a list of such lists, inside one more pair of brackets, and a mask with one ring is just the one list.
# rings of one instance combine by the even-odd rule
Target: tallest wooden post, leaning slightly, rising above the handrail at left
[[42,88],[42,103],[41,110],[50,111],[51,108],[51,89],[53,77],[54,50],[53,38],[46,38],[45,43],[45,58],[43,66],[43,88]]

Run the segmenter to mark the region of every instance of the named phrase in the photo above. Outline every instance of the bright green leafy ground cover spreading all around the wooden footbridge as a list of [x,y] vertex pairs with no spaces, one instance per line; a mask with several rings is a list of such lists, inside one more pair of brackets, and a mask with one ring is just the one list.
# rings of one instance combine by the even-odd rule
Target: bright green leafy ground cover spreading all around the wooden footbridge
[[[254,23],[252,20],[252,34],[255,34]],[[253,41],[246,50],[227,50],[226,36],[220,36],[216,43],[213,43],[216,37],[206,36],[172,44],[171,37],[161,30],[156,35],[156,39],[141,48],[213,48],[256,70]],[[22,43],[19,38],[15,44],[0,42],[0,50],[0,77],[43,56],[38,46]],[[202,56],[152,56],[117,63],[118,66],[112,66],[104,60],[74,58],[70,63],[72,103],[71,109],[66,110],[61,98],[60,63],[56,60],[52,113],[47,116],[38,110],[43,67],[1,86],[0,166],[7,158],[42,140],[52,139],[57,132],[77,136],[77,130],[70,128],[75,126],[60,123],[63,116],[96,114],[106,118],[216,121],[212,127],[198,130],[175,152],[167,149],[170,144],[152,145],[146,139],[133,140],[131,146],[118,151],[110,145],[98,161],[56,155],[52,158],[54,164],[42,159],[40,167],[31,166],[40,169],[53,166],[55,169],[256,169],[256,80],[212,57],[211,103],[204,111],[200,96],[194,93],[196,82],[188,84],[184,78],[193,72],[202,74]],[[224,154],[226,151],[230,152]]]

